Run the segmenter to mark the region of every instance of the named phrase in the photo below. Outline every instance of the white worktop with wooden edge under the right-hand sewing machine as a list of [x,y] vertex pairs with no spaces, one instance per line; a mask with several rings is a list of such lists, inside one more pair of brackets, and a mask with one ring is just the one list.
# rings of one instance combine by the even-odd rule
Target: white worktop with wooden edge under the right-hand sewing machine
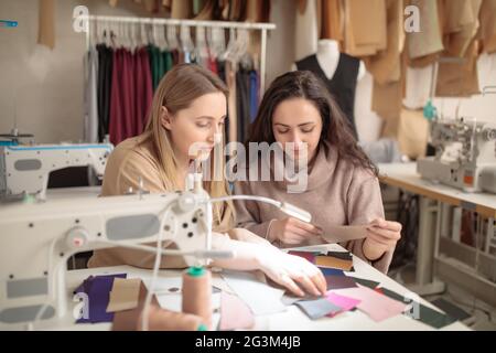
[[[444,184],[422,179],[417,172],[417,163],[378,164],[381,182],[407,191],[419,193],[454,205],[472,204],[474,211],[487,216],[496,215],[496,195],[489,193],[468,193]],[[470,208],[470,207],[468,207]]]

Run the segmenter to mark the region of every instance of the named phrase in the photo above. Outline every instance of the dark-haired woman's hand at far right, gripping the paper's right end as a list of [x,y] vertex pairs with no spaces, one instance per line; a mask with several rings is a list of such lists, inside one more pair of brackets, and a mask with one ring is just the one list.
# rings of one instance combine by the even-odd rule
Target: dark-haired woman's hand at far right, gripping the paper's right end
[[367,238],[364,243],[364,255],[369,260],[380,258],[386,252],[395,250],[401,238],[401,224],[398,222],[374,220],[367,226]]

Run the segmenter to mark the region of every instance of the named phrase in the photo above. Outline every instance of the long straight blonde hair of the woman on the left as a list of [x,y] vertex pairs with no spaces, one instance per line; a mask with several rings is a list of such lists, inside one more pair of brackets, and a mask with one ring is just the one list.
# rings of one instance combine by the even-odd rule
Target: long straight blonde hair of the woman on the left
[[[228,97],[226,85],[209,71],[194,64],[181,64],[174,66],[162,78],[153,96],[152,106],[148,116],[147,127],[142,133],[141,143],[151,142],[152,153],[158,160],[159,171],[166,190],[179,189],[177,159],[172,148],[171,132],[163,128],[161,122],[161,109],[165,107],[172,115],[190,107],[191,103],[209,93],[220,92]],[[224,131],[223,131],[224,137]],[[224,138],[222,142],[224,151]],[[215,154],[215,153],[213,153]],[[211,174],[215,168],[224,171],[224,158],[214,160],[211,158]],[[222,173],[224,175],[224,172]],[[227,181],[223,176],[220,181],[204,181],[204,189],[212,197],[228,195]],[[234,206],[231,202],[216,203],[213,205],[214,227],[227,231],[234,225]]]

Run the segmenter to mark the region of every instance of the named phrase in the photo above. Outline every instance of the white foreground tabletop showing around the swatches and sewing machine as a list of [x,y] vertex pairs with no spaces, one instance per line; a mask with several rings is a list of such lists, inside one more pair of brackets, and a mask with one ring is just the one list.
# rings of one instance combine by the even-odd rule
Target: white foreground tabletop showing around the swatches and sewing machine
[[[299,248],[305,250],[343,250],[338,245],[320,245],[313,247]],[[407,296],[409,290],[403,286],[399,285],[391,278],[385,276],[380,271],[376,270],[374,267],[369,266],[358,257],[354,257],[355,272],[352,275],[354,277],[365,278],[380,282],[381,287],[388,288],[398,292],[399,295]],[[109,330],[110,323],[98,323],[98,324],[75,324],[72,317],[73,308],[76,302],[72,301],[72,291],[79,286],[84,279],[90,275],[109,275],[109,274],[128,274],[128,277],[140,277],[149,278],[150,270],[138,269],[130,266],[118,266],[98,269],[85,269],[85,270],[74,270],[67,272],[67,296],[69,303],[69,312],[66,318],[56,321],[51,321],[46,323],[40,323],[36,330]],[[181,271],[179,270],[162,270],[160,272],[161,277],[170,277],[181,279]],[[172,298],[172,297],[171,297]],[[161,298],[161,301],[163,298]],[[420,302],[435,308],[428,301],[419,298]],[[176,300],[174,300],[172,306],[176,306]],[[47,325],[50,323],[50,325]],[[322,318],[319,320],[309,319],[300,309],[295,306],[291,306],[287,311],[256,317],[255,330],[262,331],[285,331],[285,330],[296,330],[296,331],[353,331],[353,330],[434,330],[433,328],[416,321],[406,315],[399,314],[397,317],[389,318],[381,322],[375,322],[366,313],[355,310],[351,312],[341,313],[334,318]],[[442,330],[470,330],[466,325],[461,322],[454,322]]]

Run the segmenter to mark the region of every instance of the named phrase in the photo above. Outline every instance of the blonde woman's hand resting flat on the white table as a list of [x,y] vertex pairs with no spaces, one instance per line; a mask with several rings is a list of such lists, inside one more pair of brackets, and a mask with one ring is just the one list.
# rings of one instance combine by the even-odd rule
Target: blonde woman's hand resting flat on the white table
[[316,297],[324,296],[327,290],[327,284],[322,271],[302,257],[289,255],[278,249],[266,254],[262,252],[258,260],[260,270],[296,296],[305,296],[301,288]]

